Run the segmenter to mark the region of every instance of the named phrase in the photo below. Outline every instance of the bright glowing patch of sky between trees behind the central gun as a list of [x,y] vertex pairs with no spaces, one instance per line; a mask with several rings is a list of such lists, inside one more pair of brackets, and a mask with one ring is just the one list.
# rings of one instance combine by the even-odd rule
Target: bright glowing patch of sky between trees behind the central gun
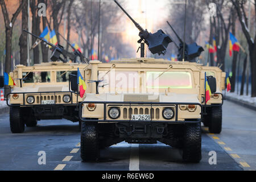
[[[144,29],[154,33],[161,28],[159,23],[167,18],[166,5],[168,2],[168,0],[126,0],[122,6]],[[137,50],[139,47],[137,41],[140,39],[139,30],[125,13],[122,15],[122,20],[125,22],[122,30],[123,39]]]

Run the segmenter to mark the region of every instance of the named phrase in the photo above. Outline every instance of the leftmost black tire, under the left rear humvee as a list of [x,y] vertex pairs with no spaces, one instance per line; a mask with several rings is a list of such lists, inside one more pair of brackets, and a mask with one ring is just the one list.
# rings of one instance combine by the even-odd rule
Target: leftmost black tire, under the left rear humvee
[[25,129],[19,106],[10,107],[10,129],[12,133],[23,133]]

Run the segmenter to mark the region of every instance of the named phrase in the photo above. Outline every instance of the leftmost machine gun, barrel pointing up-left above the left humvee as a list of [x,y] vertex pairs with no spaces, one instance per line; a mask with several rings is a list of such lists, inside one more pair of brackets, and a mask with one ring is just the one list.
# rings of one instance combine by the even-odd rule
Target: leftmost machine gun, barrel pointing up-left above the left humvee
[[[27,30],[23,30],[24,32],[27,32],[27,34],[30,34],[32,36],[35,36],[36,38],[42,40],[42,42],[46,43],[47,45],[51,46],[52,50],[52,55],[51,55],[51,60],[52,61],[57,61],[58,59],[63,61],[63,63],[67,63],[67,57],[71,59],[72,61],[76,60],[76,55],[72,52],[66,51],[63,46],[60,46],[59,44],[57,46],[53,45],[52,43],[49,43],[47,40],[44,40],[43,38],[40,38],[39,36],[36,36],[32,34],[31,32],[28,32]],[[64,58],[60,57],[60,55],[63,55]]]

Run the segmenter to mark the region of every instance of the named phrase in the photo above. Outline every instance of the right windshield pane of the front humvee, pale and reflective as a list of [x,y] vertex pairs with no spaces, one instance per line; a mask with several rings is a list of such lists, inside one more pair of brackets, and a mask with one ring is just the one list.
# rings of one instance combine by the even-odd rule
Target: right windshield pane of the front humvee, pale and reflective
[[147,72],[147,88],[192,89],[191,73],[165,72],[161,75],[162,73],[163,72]]

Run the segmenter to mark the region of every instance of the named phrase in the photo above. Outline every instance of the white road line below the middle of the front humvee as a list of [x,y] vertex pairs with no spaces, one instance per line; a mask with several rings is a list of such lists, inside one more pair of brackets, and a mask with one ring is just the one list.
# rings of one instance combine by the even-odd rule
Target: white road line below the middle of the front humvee
[[139,171],[139,144],[131,144],[130,171]]

